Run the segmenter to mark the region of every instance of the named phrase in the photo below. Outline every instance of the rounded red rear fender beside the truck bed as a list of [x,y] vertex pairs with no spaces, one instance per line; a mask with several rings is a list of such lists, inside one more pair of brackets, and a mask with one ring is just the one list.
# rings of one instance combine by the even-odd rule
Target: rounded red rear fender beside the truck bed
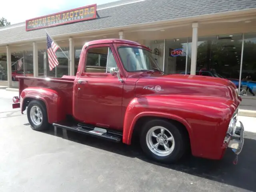
[[58,92],[48,88],[29,87],[20,94],[21,112],[26,109],[24,100],[37,99],[44,102],[48,114],[48,122],[53,123],[65,119],[64,110],[62,110],[62,97]]

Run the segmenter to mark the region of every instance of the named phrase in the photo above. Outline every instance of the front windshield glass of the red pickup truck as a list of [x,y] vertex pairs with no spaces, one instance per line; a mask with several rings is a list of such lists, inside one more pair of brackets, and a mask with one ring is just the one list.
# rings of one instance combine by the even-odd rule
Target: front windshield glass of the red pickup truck
[[128,72],[143,70],[161,71],[152,53],[147,50],[133,47],[120,47],[118,48],[118,53],[124,68]]

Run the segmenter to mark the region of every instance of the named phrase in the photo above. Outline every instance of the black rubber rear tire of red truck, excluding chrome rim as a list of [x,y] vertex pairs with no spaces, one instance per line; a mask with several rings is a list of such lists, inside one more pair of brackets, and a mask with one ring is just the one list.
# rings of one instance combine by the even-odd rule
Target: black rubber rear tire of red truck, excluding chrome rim
[[[30,110],[32,109],[33,106],[38,107],[42,113],[42,121],[39,125],[34,124],[30,117]],[[50,126],[50,124],[48,123],[46,106],[42,101],[39,101],[39,100],[30,101],[27,108],[27,116],[28,116],[28,122],[30,123],[31,128],[33,130],[42,131],[42,130],[48,129]]]

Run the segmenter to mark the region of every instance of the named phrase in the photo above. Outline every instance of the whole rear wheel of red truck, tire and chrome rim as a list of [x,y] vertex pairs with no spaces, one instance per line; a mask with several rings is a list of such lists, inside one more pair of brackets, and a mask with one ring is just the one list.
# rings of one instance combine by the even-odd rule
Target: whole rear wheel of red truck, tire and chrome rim
[[28,122],[33,130],[41,131],[49,128],[47,110],[39,100],[32,100],[27,108]]

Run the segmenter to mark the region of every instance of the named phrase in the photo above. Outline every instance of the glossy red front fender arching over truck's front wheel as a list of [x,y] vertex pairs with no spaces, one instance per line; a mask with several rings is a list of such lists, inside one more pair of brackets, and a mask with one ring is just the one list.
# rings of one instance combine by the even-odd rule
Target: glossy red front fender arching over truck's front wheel
[[218,159],[231,116],[231,100],[202,96],[142,96],[126,108],[123,142],[131,143],[137,120],[142,116],[168,118],[182,123],[189,134],[194,156]]

